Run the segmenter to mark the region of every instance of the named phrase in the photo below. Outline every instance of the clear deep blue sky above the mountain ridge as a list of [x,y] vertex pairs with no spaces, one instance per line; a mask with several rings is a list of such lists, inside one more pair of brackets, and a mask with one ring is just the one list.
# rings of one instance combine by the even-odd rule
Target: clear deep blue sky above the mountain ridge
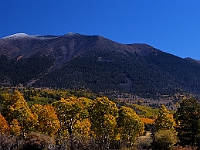
[[200,60],[200,0],[0,0],[0,38],[101,35]]

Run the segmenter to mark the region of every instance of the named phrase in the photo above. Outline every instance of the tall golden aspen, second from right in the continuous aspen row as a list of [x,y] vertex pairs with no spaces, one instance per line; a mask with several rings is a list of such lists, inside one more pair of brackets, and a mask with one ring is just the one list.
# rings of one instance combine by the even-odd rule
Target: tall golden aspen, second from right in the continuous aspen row
[[97,98],[90,109],[91,129],[98,138],[114,138],[118,108],[107,97]]

